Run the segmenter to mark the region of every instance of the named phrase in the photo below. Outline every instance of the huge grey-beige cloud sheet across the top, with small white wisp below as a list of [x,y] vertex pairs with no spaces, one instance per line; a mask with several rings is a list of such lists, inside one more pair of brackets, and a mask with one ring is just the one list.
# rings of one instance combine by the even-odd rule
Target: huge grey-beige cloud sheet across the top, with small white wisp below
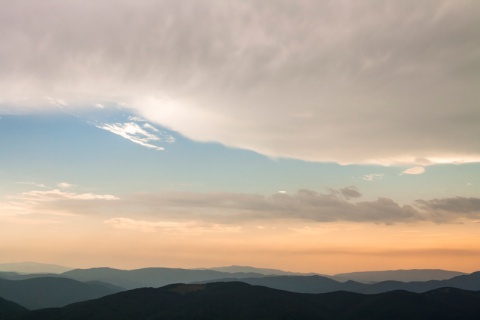
[[118,103],[272,157],[480,160],[475,0],[10,1],[0,21],[3,108]]

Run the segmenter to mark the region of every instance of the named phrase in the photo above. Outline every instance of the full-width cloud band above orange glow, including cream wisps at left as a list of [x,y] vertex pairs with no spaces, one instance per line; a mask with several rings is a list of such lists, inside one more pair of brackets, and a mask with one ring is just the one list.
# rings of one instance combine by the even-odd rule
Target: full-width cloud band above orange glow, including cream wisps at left
[[[261,224],[274,220],[395,224],[421,221],[453,223],[480,219],[479,198],[442,198],[400,204],[384,197],[373,201],[358,201],[360,197],[361,193],[354,187],[330,189],[327,193],[313,190],[272,195],[161,192],[135,193],[122,197],[54,189],[10,196],[9,201],[4,203],[4,208],[5,212],[18,214],[95,214],[110,217],[107,220],[115,227],[144,230],[168,229],[170,226],[174,228],[177,223],[194,223],[195,228],[200,225],[211,228],[220,225],[234,227],[249,223]],[[119,218],[119,212],[122,212],[122,219],[136,222],[111,220]],[[156,220],[158,224],[147,224],[143,220]]]

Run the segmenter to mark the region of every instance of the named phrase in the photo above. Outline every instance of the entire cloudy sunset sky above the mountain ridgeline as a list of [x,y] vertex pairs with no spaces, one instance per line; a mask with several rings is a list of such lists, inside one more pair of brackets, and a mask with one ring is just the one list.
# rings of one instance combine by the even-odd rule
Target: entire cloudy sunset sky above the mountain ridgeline
[[0,4],[0,263],[480,270],[480,2]]

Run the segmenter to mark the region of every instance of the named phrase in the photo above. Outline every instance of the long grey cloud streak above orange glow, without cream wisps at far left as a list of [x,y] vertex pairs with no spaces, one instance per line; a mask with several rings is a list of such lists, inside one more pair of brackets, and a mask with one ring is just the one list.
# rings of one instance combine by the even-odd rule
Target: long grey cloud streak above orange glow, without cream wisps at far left
[[[352,187],[344,189],[355,190]],[[358,192],[358,191],[356,191]],[[358,192],[358,194],[360,194]],[[50,199],[39,201],[43,211],[72,212],[100,216],[163,217],[169,220],[198,220],[238,224],[248,221],[298,219],[314,222],[362,223],[454,223],[480,218],[480,199],[444,198],[417,200],[402,205],[388,198],[373,201],[349,200],[339,190],[328,193],[299,190],[293,194],[137,193],[115,201]],[[34,211],[34,210],[33,210]]]

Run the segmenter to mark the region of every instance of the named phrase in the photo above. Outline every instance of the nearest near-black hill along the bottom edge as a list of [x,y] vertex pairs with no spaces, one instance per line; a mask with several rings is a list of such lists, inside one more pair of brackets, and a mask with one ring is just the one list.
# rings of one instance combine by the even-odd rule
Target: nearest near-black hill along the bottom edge
[[480,293],[442,288],[422,294],[406,291],[376,295],[301,294],[240,282],[177,284],[124,291],[7,319],[478,320]]

